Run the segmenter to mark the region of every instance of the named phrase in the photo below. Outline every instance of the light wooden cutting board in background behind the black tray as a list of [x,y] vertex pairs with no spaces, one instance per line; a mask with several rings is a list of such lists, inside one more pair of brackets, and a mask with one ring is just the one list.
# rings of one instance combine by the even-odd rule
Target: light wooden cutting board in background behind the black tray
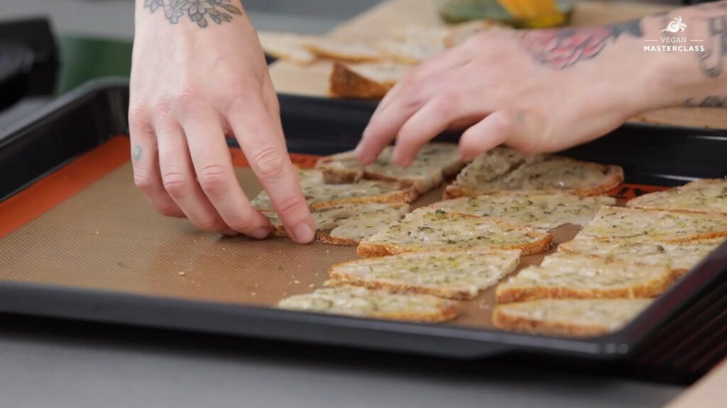
[[[576,26],[608,24],[664,12],[670,8],[623,1],[579,1],[572,23]],[[389,0],[343,23],[331,35],[377,38],[403,23],[444,24],[437,15],[433,0]],[[330,62],[317,62],[307,67],[289,62],[276,62],[270,68],[270,76],[278,92],[316,97],[328,96],[330,72]],[[632,121],[727,129],[727,110],[675,107],[639,115]]]

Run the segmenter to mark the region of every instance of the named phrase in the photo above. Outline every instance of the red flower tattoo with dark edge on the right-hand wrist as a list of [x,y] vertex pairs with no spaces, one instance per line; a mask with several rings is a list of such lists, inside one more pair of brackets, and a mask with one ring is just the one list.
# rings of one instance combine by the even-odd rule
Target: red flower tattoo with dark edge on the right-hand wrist
[[641,20],[594,28],[526,31],[522,44],[535,62],[563,70],[592,60],[624,35],[642,37]]

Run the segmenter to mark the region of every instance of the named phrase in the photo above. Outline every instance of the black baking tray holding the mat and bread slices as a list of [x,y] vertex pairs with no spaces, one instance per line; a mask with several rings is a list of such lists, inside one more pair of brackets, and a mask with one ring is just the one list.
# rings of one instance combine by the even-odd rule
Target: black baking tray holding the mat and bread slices
[[[128,132],[128,82],[87,83],[0,134],[0,200],[111,136]],[[281,95],[289,150],[348,150],[374,110],[371,102]],[[445,134],[441,139],[456,139]],[[727,131],[627,124],[568,150],[574,158],[619,164],[627,182],[677,185],[727,174]],[[0,260],[0,267],[2,267]],[[727,245],[618,332],[574,339],[185,301],[98,290],[0,282],[0,313],[270,338],[475,359],[496,354],[616,359],[706,372],[725,356]]]

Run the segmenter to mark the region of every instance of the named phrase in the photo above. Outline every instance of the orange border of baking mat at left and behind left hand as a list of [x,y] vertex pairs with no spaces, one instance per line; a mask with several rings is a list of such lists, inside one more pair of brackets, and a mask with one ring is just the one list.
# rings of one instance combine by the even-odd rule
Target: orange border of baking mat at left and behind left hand
[[[0,203],[0,238],[124,165],[130,158],[129,149],[129,136],[113,136],[108,142]],[[249,167],[242,150],[230,149],[230,155],[233,166]],[[292,162],[302,168],[312,168],[317,158],[315,155],[291,155]]]

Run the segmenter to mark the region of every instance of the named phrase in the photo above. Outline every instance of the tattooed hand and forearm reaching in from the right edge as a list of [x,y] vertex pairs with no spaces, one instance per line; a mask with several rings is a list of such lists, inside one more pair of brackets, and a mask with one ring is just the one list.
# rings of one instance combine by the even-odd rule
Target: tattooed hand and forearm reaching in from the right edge
[[[664,33],[674,21],[678,33]],[[648,51],[677,41],[704,51]],[[357,156],[369,163],[396,139],[393,159],[408,166],[448,128],[466,129],[459,142],[465,159],[499,144],[553,152],[645,110],[727,106],[726,44],[727,0],[603,27],[484,32],[399,81]]]

